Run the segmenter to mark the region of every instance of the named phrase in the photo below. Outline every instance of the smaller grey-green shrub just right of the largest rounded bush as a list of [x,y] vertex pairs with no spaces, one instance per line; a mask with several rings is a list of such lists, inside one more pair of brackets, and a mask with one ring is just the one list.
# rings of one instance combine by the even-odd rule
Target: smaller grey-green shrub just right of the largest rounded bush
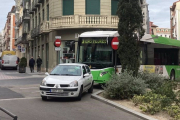
[[155,73],[148,73],[146,71],[139,72],[138,77],[142,78],[147,84],[147,87],[151,90],[160,87],[162,83],[165,81],[165,78],[163,76]]

